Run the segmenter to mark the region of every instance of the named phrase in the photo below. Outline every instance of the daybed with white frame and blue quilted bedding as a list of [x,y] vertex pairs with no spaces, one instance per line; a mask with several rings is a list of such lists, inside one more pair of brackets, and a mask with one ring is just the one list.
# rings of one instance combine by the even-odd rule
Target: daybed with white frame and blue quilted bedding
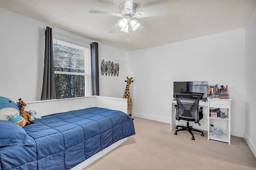
[[0,147],[0,170],[82,169],[135,134],[126,99],[90,96],[26,104],[42,119],[23,128],[4,121],[24,139]]

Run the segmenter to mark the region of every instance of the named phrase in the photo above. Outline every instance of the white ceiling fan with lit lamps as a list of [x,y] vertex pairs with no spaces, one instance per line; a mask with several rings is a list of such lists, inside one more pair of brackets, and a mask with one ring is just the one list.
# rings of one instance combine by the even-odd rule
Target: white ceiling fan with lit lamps
[[122,17],[122,20],[119,20],[114,27],[108,31],[109,33],[114,33],[117,29],[120,28],[121,31],[126,33],[129,32],[130,26],[132,31],[138,29],[141,33],[147,32],[147,30],[134,18],[144,18],[152,16],[165,16],[167,14],[167,8],[160,8],[154,10],[147,10],[136,12],[137,5],[133,3],[133,0],[124,0],[119,6],[120,14],[114,12],[98,11],[98,10],[89,10],[91,14],[103,14],[110,16]]

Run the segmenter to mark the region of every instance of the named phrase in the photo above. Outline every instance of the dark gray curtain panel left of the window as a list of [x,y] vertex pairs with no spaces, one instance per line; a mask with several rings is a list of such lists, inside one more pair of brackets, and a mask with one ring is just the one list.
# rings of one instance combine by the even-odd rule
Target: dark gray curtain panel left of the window
[[41,100],[56,99],[52,28],[46,27],[44,50],[44,77]]

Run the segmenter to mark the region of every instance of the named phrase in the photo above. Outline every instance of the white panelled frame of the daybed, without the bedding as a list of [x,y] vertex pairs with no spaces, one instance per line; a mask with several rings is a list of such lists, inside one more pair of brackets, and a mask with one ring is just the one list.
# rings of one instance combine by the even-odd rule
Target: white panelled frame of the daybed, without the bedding
[[[36,110],[37,116],[45,116],[53,113],[61,113],[66,111],[84,109],[88,107],[103,107],[112,110],[120,110],[127,114],[127,99],[123,98],[111,98],[103,96],[88,96],[79,98],[67,98],[58,100],[41,100],[35,102],[25,102],[27,106],[26,111]],[[110,145],[106,149],[98,152],[97,154],[81,162],[77,166],[73,167],[71,170],[81,170],[97,160],[98,158],[104,156],[114,148],[118,147],[122,143],[127,141],[127,138],[121,139],[116,143]]]

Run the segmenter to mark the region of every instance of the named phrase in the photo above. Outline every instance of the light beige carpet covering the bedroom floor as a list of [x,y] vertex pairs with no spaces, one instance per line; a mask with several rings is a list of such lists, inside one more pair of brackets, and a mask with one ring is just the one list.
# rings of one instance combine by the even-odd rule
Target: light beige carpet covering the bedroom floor
[[256,170],[256,158],[241,137],[228,143],[170,124],[134,117],[136,135],[83,170]]

